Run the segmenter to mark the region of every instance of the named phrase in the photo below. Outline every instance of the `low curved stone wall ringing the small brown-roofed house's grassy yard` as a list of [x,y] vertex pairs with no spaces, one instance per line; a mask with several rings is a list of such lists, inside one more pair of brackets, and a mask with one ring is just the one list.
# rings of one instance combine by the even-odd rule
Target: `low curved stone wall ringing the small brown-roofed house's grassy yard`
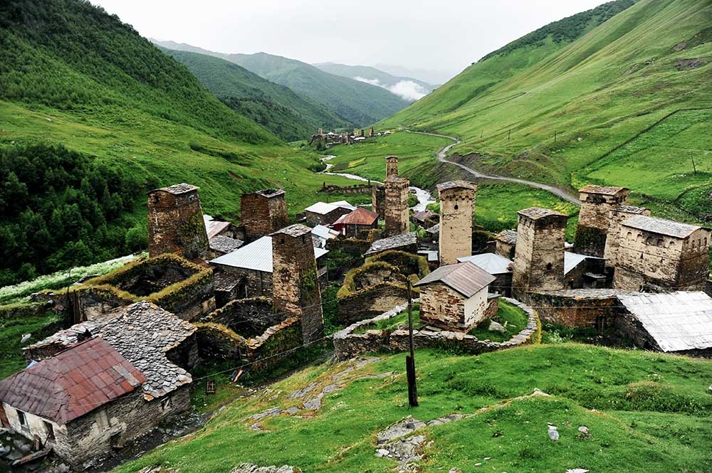
[[[523,309],[529,318],[526,328],[508,341],[482,341],[477,339],[476,336],[456,331],[414,330],[414,346],[416,349],[439,348],[458,351],[459,353],[481,354],[523,344],[538,343],[540,341],[541,328],[538,315],[534,309],[514,299],[505,300]],[[338,331],[334,334],[335,356],[340,360],[347,360],[369,352],[408,351],[409,334],[407,330],[367,330],[362,334],[354,333],[357,330],[362,331],[369,326],[375,326],[379,321],[396,317],[405,308],[406,304],[401,304],[373,319],[358,321]]]

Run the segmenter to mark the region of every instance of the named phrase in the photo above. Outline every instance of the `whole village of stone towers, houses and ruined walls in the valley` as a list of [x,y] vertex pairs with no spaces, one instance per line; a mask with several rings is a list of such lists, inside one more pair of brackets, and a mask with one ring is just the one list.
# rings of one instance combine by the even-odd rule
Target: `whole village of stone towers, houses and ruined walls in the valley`
[[[613,329],[645,349],[712,354],[708,228],[629,206],[625,188],[585,186],[573,245],[567,216],[526,208],[516,230],[473,251],[477,184],[438,184],[439,212],[412,213],[397,156],[385,169],[370,209],[318,202],[300,223],[290,223],[281,189],[244,194],[240,225],[205,215],[195,186],[150,192],[149,257],[36,295],[69,324],[26,346],[28,368],[0,381],[0,419],[73,464],[120,448],[190,409],[190,371],[202,358],[233,362],[237,379],[323,339],[330,274],[343,278],[343,324],[392,317],[412,290],[419,346],[506,348],[528,343],[544,319]],[[330,269],[331,252],[352,266]],[[525,310],[523,330],[500,344],[468,334],[501,298]],[[402,349],[406,335],[340,332],[337,356]]]

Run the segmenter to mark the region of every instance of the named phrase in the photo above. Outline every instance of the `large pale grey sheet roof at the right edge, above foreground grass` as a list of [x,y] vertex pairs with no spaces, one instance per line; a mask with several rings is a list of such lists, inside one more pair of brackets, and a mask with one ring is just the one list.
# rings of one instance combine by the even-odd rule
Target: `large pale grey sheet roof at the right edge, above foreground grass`
[[662,351],[712,347],[712,298],[704,292],[637,292],[618,298]]

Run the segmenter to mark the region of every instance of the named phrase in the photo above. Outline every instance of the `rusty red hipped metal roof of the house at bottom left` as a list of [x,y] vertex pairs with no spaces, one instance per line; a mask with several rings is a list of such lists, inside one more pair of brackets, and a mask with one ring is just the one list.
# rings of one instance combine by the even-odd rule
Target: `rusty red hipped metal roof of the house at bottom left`
[[110,344],[89,339],[0,381],[12,407],[66,424],[139,388],[146,378]]

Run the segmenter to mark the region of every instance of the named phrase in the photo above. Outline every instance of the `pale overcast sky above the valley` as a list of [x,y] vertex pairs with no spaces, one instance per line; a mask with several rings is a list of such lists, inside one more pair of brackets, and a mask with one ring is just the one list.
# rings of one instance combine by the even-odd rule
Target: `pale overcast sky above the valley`
[[455,75],[529,31],[603,0],[91,0],[148,38],[307,63]]

